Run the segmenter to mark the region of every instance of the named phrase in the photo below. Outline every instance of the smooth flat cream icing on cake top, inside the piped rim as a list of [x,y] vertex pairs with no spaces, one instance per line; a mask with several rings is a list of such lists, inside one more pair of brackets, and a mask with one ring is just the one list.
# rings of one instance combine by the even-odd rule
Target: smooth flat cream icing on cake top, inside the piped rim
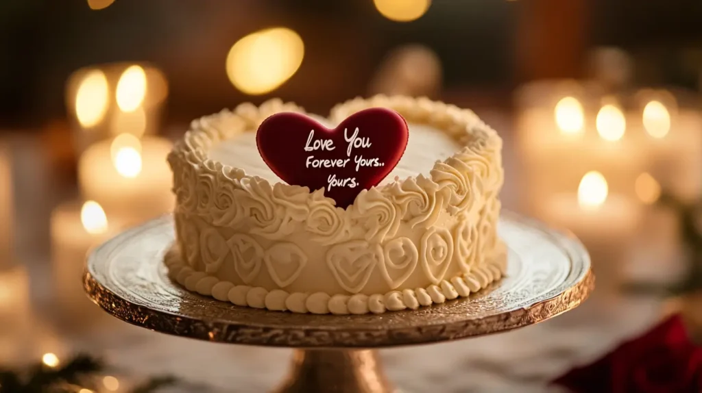
[[[329,126],[328,120],[315,117],[320,123]],[[380,184],[399,177],[429,175],[437,160],[445,160],[459,151],[461,145],[446,132],[430,125],[409,123],[409,139],[404,155],[397,166]],[[256,149],[256,132],[243,132],[231,139],[225,139],[212,146],[208,152],[211,160],[244,170],[246,174],[258,176],[272,182],[282,181],[266,165]]]

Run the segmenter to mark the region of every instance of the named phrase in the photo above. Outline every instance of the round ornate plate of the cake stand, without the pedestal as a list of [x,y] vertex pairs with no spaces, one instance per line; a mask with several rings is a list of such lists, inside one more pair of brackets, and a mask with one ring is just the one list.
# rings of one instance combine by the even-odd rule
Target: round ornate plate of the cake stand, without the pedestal
[[[503,240],[518,254],[527,252],[525,249],[557,247],[562,254],[546,264],[557,266],[559,271],[567,269],[564,280],[550,283],[552,288],[546,291],[527,291],[518,299],[505,296],[509,289],[504,286],[510,282],[505,280],[475,297],[382,316],[241,308],[191,294],[162,278],[163,254],[173,241],[173,219],[164,216],[95,249],[88,257],[84,288],[106,312],[146,329],[219,343],[308,348],[390,347],[481,336],[542,322],[585,301],[594,288],[595,277],[578,240],[508,212],[503,213],[501,225],[510,227],[506,231],[510,235]],[[535,236],[541,243],[534,244]],[[530,247],[513,247],[518,246],[520,238],[528,238]],[[520,257],[529,260],[526,255]],[[491,290],[494,287],[500,291]],[[491,298],[491,292],[503,297],[505,303],[479,317],[468,312],[479,309],[481,302],[500,302],[500,298]]]

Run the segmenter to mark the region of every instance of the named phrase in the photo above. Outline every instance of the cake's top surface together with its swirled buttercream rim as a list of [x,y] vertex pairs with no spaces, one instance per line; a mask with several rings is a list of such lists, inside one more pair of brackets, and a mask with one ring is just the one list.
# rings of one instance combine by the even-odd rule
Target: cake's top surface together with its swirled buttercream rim
[[[337,205],[324,194],[324,189],[310,190],[280,181],[264,163],[256,149],[253,130],[274,113],[305,113],[300,106],[280,99],[260,106],[241,104],[233,111],[221,111],[192,122],[168,156],[174,177],[185,184],[174,190],[178,200],[183,201],[180,205],[192,207],[195,196],[207,191],[226,194],[227,200],[244,197],[265,206],[284,198],[294,201],[286,202],[287,205],[303,210],[310,206],[333,210],[343,222],[380,209],[379,217],[395,217],[394,223],[402,214],[388,215],[385,210],[402,213],[411,203],[430,215],[442,209],[457,214],[475,206],[474,201],[486,193],[499,192],[504,179],[502,140],[475,113],[427,98],[378,95],[338,104],[331,110],[327,124],[339,124],[354,113],[374,107],[399,113],[409,125],[409,142],[395,170],[378,186],[360,191],[351,205]],[[435,198],[441,203],[432,202]],[[203,205],[201,211],[205,212],[208,206]],[[263,219],[280,219],[268,216],[269,209],[265,213]]]

